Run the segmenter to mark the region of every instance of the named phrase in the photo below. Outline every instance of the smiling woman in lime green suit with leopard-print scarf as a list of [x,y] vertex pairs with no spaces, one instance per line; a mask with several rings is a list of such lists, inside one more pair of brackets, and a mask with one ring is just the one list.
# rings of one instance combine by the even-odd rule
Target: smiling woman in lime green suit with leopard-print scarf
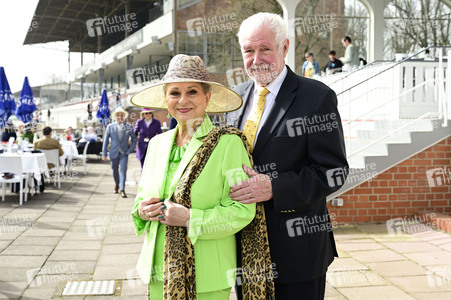
[[241,98],[209,81],[198,56],[176,55],[162,81],[131,102],[167,108],[178,122],[150,141],[132,210],[137,234],[145,233],[137,270],[150,299],[229,299],[241,273],[239,231],[242,270],[261,273],[243,280],[245,298],[272,295],[271,276],[261,276],[271,273],[263,207],[229,197],[230,187],[247,179],[243,164],[251,166],[245,137],[215,128],[206,114],[236,110]]

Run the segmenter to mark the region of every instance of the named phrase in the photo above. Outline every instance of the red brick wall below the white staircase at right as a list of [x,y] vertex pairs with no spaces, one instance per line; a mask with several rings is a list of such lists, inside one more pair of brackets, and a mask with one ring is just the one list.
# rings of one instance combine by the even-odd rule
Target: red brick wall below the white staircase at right
[[380,222],[428,210],[451,214],[451,182],[429,186],[426,171],[451,170],[451,137],[339,196],[343,206],[328,203],[338,223]]

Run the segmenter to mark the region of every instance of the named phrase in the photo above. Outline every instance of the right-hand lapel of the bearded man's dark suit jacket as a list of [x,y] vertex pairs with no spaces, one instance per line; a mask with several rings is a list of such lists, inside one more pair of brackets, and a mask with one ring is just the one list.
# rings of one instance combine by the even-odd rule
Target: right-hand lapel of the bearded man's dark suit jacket
[[291,102],[293,102],[296,97],[294,90],[297,88],[297,75],[294,74],[288,66],[287,69],[287,76],[280,87],[271,112],[269,113],[265,124],[263,124],[260,133],[258,134],[257,143],[255,144],[255,148],[252,153],[253,156],[257,156],[260,153],[263,146],[268,141],[268,138],[274,132],[277,125],[288,111]]

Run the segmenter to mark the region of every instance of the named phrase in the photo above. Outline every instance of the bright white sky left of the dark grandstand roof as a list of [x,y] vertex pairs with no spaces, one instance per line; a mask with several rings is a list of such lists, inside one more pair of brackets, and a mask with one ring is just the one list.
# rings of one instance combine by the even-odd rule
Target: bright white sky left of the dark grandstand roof
[[[23,46],[37,3],[38,0],[0,1],[0,66],[5,68],[13,92],[22,89],[25,76],[31,86],[38,86],[48,83],[53,74],[68,74],[67,42]],[[85,57],[85,62],[88,60]],[[80,55],[72,54],[71,70],[79,66]]]

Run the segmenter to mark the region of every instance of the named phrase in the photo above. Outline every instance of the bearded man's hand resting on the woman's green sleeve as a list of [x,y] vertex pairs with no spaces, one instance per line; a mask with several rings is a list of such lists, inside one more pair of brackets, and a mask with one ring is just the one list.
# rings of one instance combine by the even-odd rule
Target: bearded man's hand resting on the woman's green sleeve
[[269,176],[257,173],[246,165],[243,165],[243,170],[250,178],[232,186],[230,198],[244,204],[272,199],[272,186]]

